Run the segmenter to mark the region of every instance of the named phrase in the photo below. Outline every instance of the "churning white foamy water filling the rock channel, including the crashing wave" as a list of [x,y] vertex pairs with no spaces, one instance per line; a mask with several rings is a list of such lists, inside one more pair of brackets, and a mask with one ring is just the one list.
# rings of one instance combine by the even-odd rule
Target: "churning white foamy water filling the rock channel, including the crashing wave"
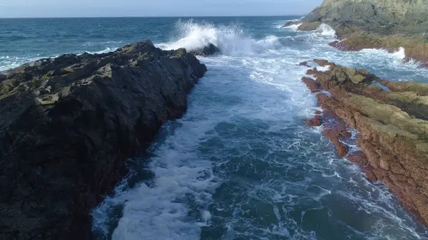
[[[346,199],[342,201],[355,204],[355,212],[367,212],[379,218],[373,220],[367,215],[367,226],[350,230],[352,234],[364,239],[379,239],[375,236],[402,239],[395,233],[402,231],[407,239],[424,239],[415,231],[415,226],[409,224],[409,216],[402,219],[404,213],[396,210],[399,205],[387,189],[367,182],[359,168],[335,157],[332,149],[313,155],[312,149],[321,151],[320,146],[326,143],[320,143],[320,128],[311,129],[302,124],[318,108],[315,96],[300,80],[307,68],[296,66],[297,63],[327,58],[347,66],[358,66],[364,61],[373,68],[382,66],[377,73],[388,72],[395,76],[392,80],[406,80],[407,77],[398,75],[402,71],[415,75],[427,73],[401,63],[404,49],[397,53],[336,51],[327,45],[335,38],[335,33],[326,25],[297,36],[270,35],[262,39],[250,38],[238,26],[190,21],[179,22],[177,28],[180,34],[175,41],[158,43],[158,46],[194,49],[213,43],[223,54],[201,58],[209,71],[190,95],[188,113],[165,125],[162,132],[166,139],[153,145],[154,156],[149,160],[148,169],[155,177],[133,189],[123,187],[126,185],[123,182],[114,197],[94,209],[94,229],[107,231],[108,212],[114,206],[123,205],[123,216],[113,231],[113,240],[200,239],[201,227],[209,229],[213,221],[225,223],[227,231],[222,239],[238,236],[246,236],[245,239],[271,239],[272,236],[316,239],[312,231],[303,231],[297,221],[287,219],[287,212],[294,211],[301,201],[308,201],[314,207],[302,211],[304,219],[310,211],[324,209],[323,199],[335,194]],[[277,31],[280,34],[295,29]],[[310,43],[311,48],[288,46],[283,41]],[[269,137],[260,139],[265,135]],[[262,150],[266,153],[256,153]],[[272,174],[267,182],[247,179],[248,182],[230,184],[228,190],[229,182],[238,181],[236,175],[243,169],[257,174],[272,166],[286,170],[279,175],[275,175],[274,170],[267,171],[261,174],[268,177]],[[287,176],[292,175],[296,166],[303,166],[314,175],[320,173],[319,179],[309,174],[297,182],[291,181]],[[279,182],[275,181],[277,178]],[[332,184],[318,185],[322,181]],[[233,189],[240,184],[249,186],[245,193],[249,199],[273,202],[276,220],[272,220],[271,228],[266,229],[251,219],[243,221],[248,203],[227,200],[229,195],[224,192],[231,191],[234,199],[240,196],[238,192],[234,195],[238,190]],[[314,186],[316,190],[312,189]],[[231,209],[233,213],[226,214]],[[340,215],[340,211],[334,213]],[[375,223],[369,224],[372,221]]]

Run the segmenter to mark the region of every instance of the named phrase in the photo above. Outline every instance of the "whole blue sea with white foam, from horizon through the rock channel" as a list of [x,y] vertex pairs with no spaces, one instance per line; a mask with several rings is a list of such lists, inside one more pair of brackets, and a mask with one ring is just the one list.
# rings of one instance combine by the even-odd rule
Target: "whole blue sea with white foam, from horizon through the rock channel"
[[[380,78],[428,83],[395,53],[328,46],[335,31],[280,28],[297,16],[0,19],[0,71],[63,53],[103,53],[151,39],[159,48],[214,43],[183,118],[163,126],[130,174],[92,211],[94,239],[428,239],[383,184],[337,157],[301,82],[325,58]],[[358,133],[353,132],[353,137]],[[356,146],[352,146],[356,150]]]

